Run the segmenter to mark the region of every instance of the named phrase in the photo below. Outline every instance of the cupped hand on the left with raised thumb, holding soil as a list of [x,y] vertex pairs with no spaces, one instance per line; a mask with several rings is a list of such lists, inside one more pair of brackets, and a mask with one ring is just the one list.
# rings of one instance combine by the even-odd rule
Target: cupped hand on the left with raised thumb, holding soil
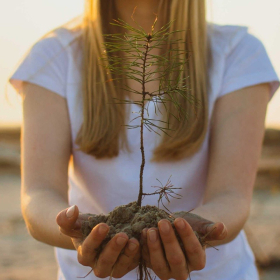
[[90,234],[83,238],[81,225],[87,220],[88,215],[79,212],[77,206],[61,211],[56,222],[60,232],[71,237],[77,250],[78,262],[92,268],[97,277],[112,276],[120,278],[139,264],[139,242],[129,239],[125,233],[116,234],[104,247],[97,259],[97,248],[105,239],[109,226],[105,223],[96,225]]

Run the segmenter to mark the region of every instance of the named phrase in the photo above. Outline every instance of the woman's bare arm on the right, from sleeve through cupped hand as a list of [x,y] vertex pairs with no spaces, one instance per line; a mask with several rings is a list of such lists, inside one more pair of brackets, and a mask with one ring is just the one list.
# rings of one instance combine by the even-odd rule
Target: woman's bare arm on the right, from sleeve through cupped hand
[[[159,231],[149,229],[143,237],[144,258],[161,279],[186,279],[189,272],[204,267],[205,253],[191,228],[203,234],[211,233],[207,243],[214,246],[233,240],[243,228],[249,215],[262,147],[269,90],[268,84],[260,84],[217,100],[211,125],[210,158],[203,205],[192,213],[174,213],[175,217],[187,221],[185,232],[179,228],[181,218],[175,220],[175,227],[185,241],[188,269],[171,228],[168,234],[160,226]],[[152,233],[161,236],[165,253],[158,241],[150,240]]]

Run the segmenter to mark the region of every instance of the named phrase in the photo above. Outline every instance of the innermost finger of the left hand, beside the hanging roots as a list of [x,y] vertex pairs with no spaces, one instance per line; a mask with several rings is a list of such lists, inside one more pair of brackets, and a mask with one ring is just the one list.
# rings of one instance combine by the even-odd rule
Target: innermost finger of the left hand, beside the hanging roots
[[125,248],[124,252],[119,255],[118,261],[114,266],[114,278],[121,278],[130,270],[136,268],[139,264],[139,242],[135,238],[131,238]]

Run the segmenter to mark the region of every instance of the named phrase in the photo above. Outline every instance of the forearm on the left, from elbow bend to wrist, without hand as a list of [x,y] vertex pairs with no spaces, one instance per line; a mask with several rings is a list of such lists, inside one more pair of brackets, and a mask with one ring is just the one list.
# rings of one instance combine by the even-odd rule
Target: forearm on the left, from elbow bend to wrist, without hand
[[57,214],[67,207],[65,198],[49,188],[22,195],[22,214],[29,233],[38,241],[74,250],[71,238],[62,234],[56,223]]

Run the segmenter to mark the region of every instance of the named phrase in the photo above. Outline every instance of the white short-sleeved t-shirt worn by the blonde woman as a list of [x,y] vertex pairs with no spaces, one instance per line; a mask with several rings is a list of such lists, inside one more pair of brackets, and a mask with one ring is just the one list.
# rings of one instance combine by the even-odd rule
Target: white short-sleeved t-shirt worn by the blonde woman
[[[76,18],[77,21],[81,17]],[[248,33],[245,26],[210,24],[209,36],[213,52],[213,63],[209,70],[209,122],[215,101],[232,91],[269,82],[270,97],[279,87],[279,78],[274,71],[262,42]],[[211,33],[210,33],[211,31]],[[11,84],[20,92],[22,81],[29,81],[45,87],[67,100],[73,143],[73,161],[69,164],[69,204],[78,205],[80,211],[108,213],[116,206],[135,201],[138,195],[139,131],[128,130],[131,154],[121,151],[113,159],[97,160],[81,151],[74,143],[82,123],[81,98],[81,32],[73,31],[69,24],[55,29],[47,38],[40,39],[30,50],[17,70],[10,77]],[[51,60],[51,61],[49,61]],[[128,110],[131,120],[135,117],[137,105]],[[151,118],[154,115],[149,107]],[[171,211],[188,211],[201,204],[206,185],[208,165],[209,130],[200,150],[192,157],[176,163],[151,163],[152,150],[160,138],[155,133],[144,131],[146,166],[144,171],[144,192],[151,192],[158,178],[166,182],[172,174],[172,183],[182,188],[183,199],[172,200]],[[145,204],[157,205],[157,197],[144,199]],[[254,256],[244,231],[230,243],[206,249],[206,267],[191,273],[192,280],[256,280],[258,273]],[[77,261],[77,252],[55,248],[59,264],[58,279],[71,280],[85,276],[89,267]],[[132,271],[122,279],[136,279]],[[98,279],[91,273],[88,280]]]

